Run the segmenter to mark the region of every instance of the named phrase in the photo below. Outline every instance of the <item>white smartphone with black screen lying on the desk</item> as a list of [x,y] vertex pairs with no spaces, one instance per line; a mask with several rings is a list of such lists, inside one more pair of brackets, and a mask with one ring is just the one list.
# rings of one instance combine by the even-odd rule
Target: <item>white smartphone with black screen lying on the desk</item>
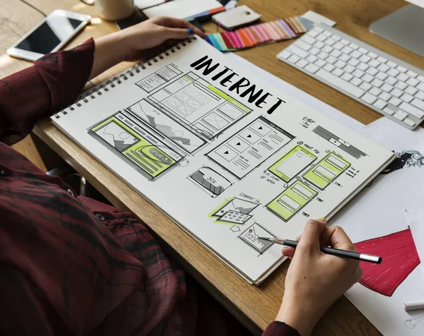
[[7,53],[19,59],[35,61],[41,56],[61,49],[73,36],[82,30],[91,17],[57,9],[30,30]]

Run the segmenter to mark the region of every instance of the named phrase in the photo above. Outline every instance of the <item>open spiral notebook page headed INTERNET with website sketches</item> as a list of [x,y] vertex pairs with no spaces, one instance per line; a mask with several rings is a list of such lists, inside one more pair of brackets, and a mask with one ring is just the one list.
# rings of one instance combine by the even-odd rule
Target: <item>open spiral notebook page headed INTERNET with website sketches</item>
[[264,83],[199,37],[84,93],[55,125],[251,283],[309,218],[394,154]]

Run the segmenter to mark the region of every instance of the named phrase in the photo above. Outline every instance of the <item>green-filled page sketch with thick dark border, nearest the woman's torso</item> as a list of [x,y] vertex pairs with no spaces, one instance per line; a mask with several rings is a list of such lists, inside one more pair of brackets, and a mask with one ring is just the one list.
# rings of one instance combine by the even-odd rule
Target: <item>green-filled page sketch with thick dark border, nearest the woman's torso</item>
[[91,126],[88,134],[148,179],[159,176],[184,157],[121,112]]

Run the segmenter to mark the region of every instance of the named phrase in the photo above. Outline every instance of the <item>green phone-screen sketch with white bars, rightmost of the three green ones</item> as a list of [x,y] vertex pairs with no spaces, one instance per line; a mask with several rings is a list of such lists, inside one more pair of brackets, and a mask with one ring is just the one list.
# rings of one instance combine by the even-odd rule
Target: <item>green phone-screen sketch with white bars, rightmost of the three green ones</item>
[[329,152],[324,159],[308,170],[303,177],[314,186],[324,189],[350,166],[351,162],[348,162],[341,155]]

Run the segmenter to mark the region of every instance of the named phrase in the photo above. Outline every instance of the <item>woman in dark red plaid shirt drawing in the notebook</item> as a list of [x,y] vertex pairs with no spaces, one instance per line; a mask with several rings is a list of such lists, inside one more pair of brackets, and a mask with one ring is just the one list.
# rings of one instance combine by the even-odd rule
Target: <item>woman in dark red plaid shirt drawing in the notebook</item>
[[[153,18],[0,80],[0,335],[235,335],[245,332],[169,260],[143,224],[77,197],[9,145],[40,116],[73,102],[87,80],[121,61],[146,59],[172,40],[203,33]],[[355,251],[339,227],[310,220],[264,335],[310,335],[326,309],[360,279],[357,262],[319,244]],[[299,304],[299,303],[302,304]]]

